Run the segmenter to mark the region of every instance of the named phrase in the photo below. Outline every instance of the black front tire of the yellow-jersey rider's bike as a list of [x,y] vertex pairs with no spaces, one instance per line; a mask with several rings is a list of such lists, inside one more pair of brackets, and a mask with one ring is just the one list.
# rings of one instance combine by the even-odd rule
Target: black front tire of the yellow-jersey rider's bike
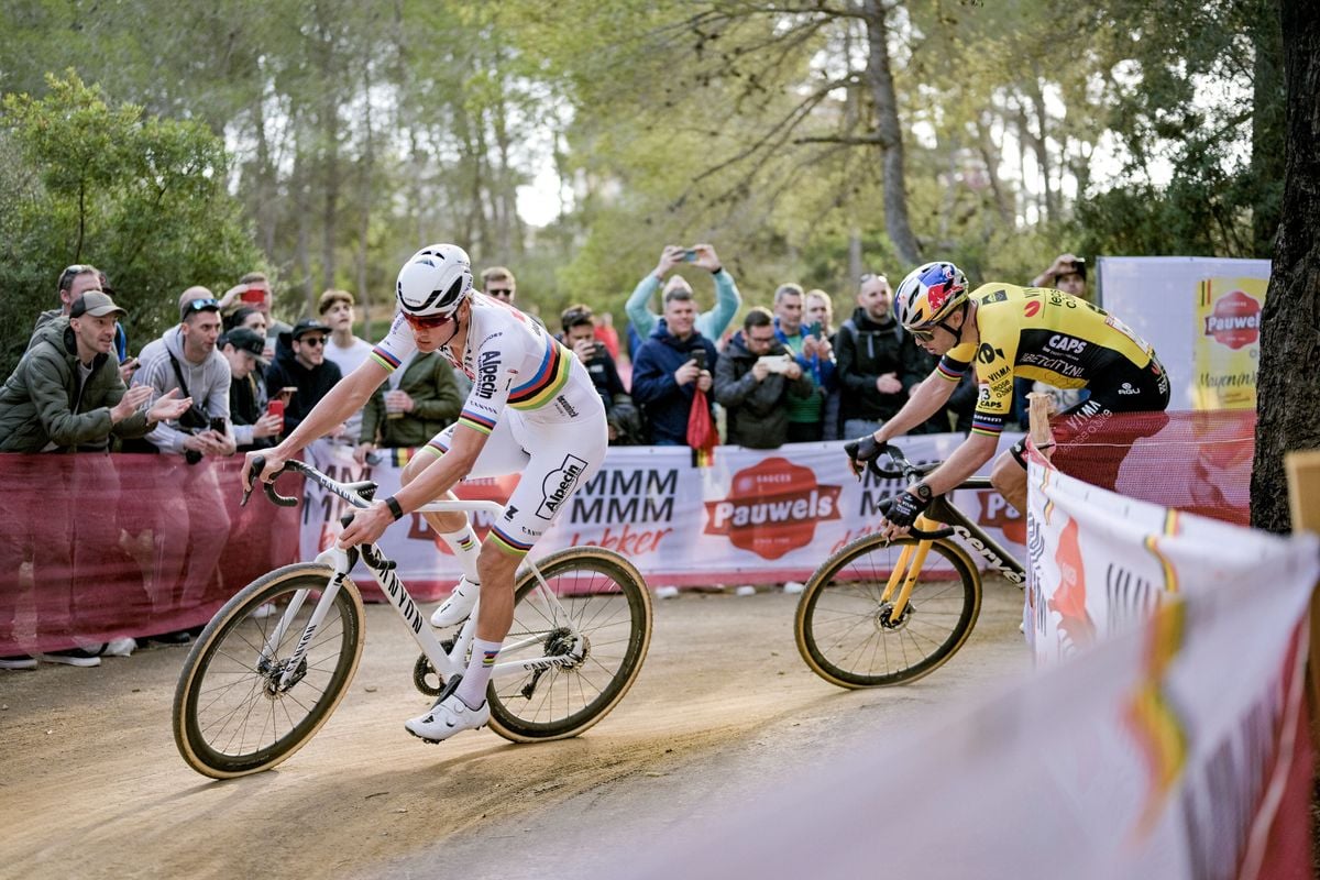
[[[863,536],[838,550],[812,574],[797,602],[797,612],[793,617],[793,637],[797,641],[797,650],[803,656],[803,660],[807,661],[807,665],[817,676],[833,685],[849,689],[903,685],[931,674],[962,648],[981,613],[981,575],[966,551],[948,540],[932,541],[931,553],[944,557],[953,566],[962,587],[962,606],[957,621],[949,628],[948,637],[933,650],[923,654],[920,660],[911,665],[884,674],[871,674],[870,672],[842,665],[842,661],[838,658],[840,652],[826,650],[824,646],[832,637],[825,631],[834,627],[828,621],[820,620],[818,612],[821,611],[824,598],[829,595],[830,586],[840,571],[870,554],[876,548],[886,548],[887,545],[886,549],[894,549],[911,544],[916,544],[916,541],[908,537],[886,542],[878,534]],[[851,590],[857,588],[851,587]],[[873,584],[867,592],[878,599],[879,586]],[[916,596],[913,596],[913,602],[917,602]],[[920,615],[919,607],[915,613]],[[858,635],[859,639],[863,636],[869,637],[870,633],[863,631]],[[855,653],[861,654],[862,652],[857,650]]]

